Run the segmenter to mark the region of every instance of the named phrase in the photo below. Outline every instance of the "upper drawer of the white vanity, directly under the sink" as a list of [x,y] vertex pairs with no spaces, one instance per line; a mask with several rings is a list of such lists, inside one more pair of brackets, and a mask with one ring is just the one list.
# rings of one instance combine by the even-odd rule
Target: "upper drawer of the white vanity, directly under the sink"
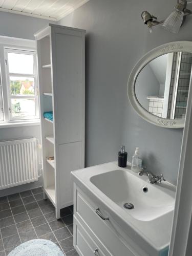
[[77,193],[77,219],[78,216],[86,222],[95,236],[112,255],[119,256],[119,252],[121,252],[121,256],[135,256],[124,241],[121,240],[118,233],[110,228],[110,226],[113,226],[112,220],[102,220],[96,214],[95,208],[79,192]]

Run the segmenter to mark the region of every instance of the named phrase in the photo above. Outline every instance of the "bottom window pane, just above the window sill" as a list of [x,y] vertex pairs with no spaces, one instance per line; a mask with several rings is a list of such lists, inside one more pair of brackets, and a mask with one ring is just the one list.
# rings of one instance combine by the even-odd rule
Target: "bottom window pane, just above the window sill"
[[35,116],[35,99],[11,99],[13,117]]

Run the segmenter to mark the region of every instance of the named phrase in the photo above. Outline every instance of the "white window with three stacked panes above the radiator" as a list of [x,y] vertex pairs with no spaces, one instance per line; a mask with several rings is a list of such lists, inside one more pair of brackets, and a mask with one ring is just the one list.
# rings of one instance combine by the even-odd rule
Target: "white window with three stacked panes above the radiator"
[[11,122],[38,119],[36,53],[8,48],[5,48],[4,53],[7,100],[4,99],[5,111],[4,116],[1,112],[3,117],[0,115],[0,120]]

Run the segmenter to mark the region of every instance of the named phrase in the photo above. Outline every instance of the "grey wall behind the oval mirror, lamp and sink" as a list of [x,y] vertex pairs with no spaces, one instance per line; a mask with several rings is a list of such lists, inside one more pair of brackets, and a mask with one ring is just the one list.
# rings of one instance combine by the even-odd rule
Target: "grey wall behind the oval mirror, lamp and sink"
[[[144,164],[164,173],[176,184],[183,130],[147,123],[127,101],[126,85],[135,63],[149,50],[166,42],[191,40],[191,18],[178,34],[160,26],[152,34],[143,25],[141,12],[159,20],[168,16],[175,0],[90,0],[59,24],[87,30],[86,38],[86,165],[117,159],[121,144],[129,160],[140,147]],[[165,8],[166,7],[166,8]]]

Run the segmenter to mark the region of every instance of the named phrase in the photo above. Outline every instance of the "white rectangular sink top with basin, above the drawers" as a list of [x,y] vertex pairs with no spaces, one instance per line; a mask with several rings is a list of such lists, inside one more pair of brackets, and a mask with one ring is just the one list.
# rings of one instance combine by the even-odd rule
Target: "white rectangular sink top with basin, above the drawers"
[[[176,187],[166,181],[148,183],[146,175],[139,176],[117,162],[91,166],[72,172],[75,184],[104,210],[104,216],[115,220],[118,227],[148,255],[168,254],[172,229]],[[165,177],[166,179],[166,177]],[[148,191],[143,192],[143,187]],[[132,203],[133,209],[125,209]]]

